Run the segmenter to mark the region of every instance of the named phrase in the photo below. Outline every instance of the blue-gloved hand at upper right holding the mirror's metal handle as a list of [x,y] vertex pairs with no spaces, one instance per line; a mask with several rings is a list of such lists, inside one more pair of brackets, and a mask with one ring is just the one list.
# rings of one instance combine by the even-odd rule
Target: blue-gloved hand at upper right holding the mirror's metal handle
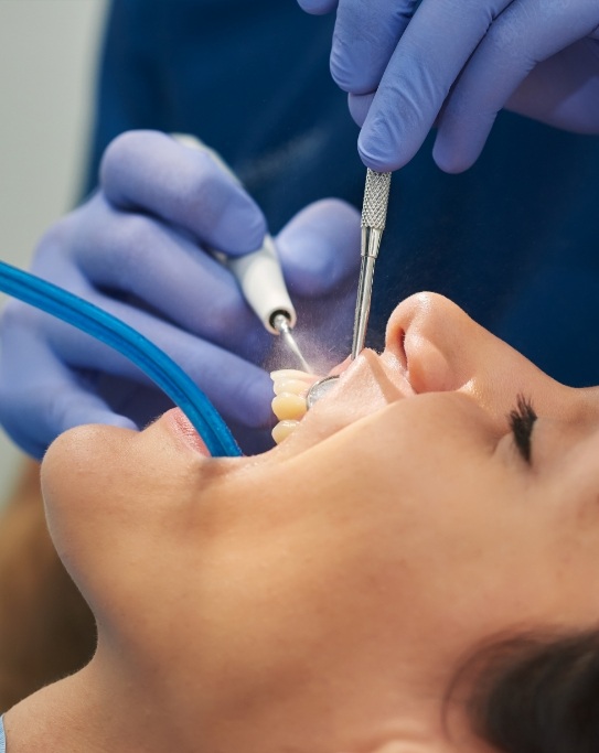
[[466,170],[503,107],[599,132],[597,0],[298,2],[312,13],[338,9],[331,71],[374,170],[409,162],[434,123],[437,164]]

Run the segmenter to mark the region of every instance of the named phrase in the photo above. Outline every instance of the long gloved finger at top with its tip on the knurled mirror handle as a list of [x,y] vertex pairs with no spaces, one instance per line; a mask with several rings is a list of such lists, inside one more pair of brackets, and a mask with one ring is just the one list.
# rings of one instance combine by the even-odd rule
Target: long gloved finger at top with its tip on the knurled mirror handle
[[416,154],[472,52],[512,0],[422,0],[399,40],[359,137],[363,162],[396,170]]

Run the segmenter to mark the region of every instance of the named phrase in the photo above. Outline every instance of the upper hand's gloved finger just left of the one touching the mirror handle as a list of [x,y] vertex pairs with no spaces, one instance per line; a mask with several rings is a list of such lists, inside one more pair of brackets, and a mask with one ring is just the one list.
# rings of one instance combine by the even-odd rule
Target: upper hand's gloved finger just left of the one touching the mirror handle
[[331,74],[344,92],[376,89],[416,4],[417,0],[340,0]]

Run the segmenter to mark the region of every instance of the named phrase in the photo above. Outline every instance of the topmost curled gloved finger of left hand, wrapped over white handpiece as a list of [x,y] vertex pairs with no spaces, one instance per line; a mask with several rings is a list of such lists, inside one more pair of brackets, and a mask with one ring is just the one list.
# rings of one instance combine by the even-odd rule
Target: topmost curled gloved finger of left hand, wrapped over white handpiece
[[158,131],[129,131],[100,165],[106,197],[121,209],[149,212],[199,243],[238,255],[261,246],[266,220],[244,189],[207,151]]

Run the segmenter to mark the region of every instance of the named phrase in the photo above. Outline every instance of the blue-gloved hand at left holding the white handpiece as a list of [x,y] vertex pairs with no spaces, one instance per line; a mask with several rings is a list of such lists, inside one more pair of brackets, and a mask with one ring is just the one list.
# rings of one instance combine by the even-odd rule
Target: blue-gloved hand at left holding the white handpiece
[[[206,153],[163,133],[132,131],[107,149],[98,192],[42,238],[33,273],[115,314],[164,349],[196,381],[246,451],[265,447],[271,383],[260,364],[275,340],[231,272],[204,252],[255,250],[265,218]],[[351,335],[360,218],[319,202],[276,239],[301,338],[342,358]],[[289,361],[284,365],[289,366]],[[81,423],[145,426],[168,399],[130,362],[19,301],[1,325],[0,420],[35,458]],[[269,440],[268,440],[269,441]]]

